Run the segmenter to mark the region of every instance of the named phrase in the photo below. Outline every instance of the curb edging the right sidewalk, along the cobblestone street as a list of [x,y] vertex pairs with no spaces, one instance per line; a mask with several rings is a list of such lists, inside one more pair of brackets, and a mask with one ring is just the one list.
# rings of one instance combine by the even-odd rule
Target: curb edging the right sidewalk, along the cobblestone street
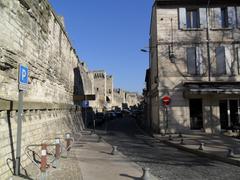
[[[156,137],[154,137],[154,138],[155,138],[155,139],[158,139],[158,138],[156,138]],[[159,139],[158,139],[158,140],[159,140]],[[177,149],[179,149],[179,150],[182,150],[182,151],[186,151],[186,152],[189,152],[189,153],[192,153],[192,154],[196,154],[196,155],[199,155],[199,156],[202,156],[202,157],[207,157],[207,158],[209,158],[209,159],[221,161],[221,162],[224,162],[224,163],[228,163],[228,164],[232,164],[232,165],[235,165],[235,166],[239,166],[239,167],[240,167],[240,161],[235,160],[235,159],[232,159],[232,158],[222,157],[222,156],[219,156],[219,155],[207,153],[207,152],[200,151],[200,150],[197,150],[197,149],[187,148],[187,147],[185,147],[185,146],[183,146],[183,145],[178,145],[178,144],[169,142],[168,140],[160,140],[160,141],[161,141],[162,143],[166,144],[166,145],[175,147],[175,148],[177,148]]]

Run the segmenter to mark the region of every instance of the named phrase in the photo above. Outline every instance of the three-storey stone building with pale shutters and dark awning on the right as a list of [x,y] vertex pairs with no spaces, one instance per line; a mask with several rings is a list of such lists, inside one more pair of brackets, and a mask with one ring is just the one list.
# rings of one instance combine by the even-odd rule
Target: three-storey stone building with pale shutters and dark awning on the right
[[239,27],[235,0],[155,0],[144,92],[153,131],[239,128]]

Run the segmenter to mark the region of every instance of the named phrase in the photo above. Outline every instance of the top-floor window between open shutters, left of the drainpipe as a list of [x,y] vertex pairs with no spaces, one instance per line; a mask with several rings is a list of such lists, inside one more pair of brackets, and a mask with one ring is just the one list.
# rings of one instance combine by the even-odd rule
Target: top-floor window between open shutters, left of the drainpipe
[[200,19],[199,19],[199,10],[198,9],[187,9],[186,10],[187,18],[187,28],[199,28]]

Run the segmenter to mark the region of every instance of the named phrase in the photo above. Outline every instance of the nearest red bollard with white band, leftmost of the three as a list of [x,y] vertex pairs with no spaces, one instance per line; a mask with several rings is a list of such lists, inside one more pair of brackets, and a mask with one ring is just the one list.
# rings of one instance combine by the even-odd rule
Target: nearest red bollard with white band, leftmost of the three
[[41,164],[40,164],[40,180],[47,179],[47,144],[42,144],[41,147]]

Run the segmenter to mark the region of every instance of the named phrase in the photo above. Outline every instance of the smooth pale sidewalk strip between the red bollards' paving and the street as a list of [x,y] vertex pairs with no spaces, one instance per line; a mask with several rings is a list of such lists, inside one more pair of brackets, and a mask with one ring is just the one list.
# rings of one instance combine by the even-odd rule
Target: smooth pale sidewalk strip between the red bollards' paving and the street
[[[141,167],[129,161],[118,152],[112,155],[112,146],[97,135],[85,135],[79,143],[76,153],[84,180],[140,180],[143,174]],[[151,180],[157,178],[151,177]]]

